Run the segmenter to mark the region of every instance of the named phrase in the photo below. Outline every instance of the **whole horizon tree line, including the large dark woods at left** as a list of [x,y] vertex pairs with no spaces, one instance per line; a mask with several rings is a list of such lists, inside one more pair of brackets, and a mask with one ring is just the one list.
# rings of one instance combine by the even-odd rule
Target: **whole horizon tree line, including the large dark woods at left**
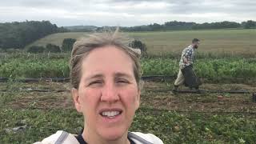
[[[134,31],[165,31],[165,30],[204,30],[204,29],[251,29],[256,28],[256,22],[249,20],[246,22],[205,22],[202,24],[196,22],[165,22],[164,24],[150,24],[145,26],[121,26],[120,29],[126,32]],[[67,26],[58,27],[49,21],[26,21],[26,22],[6,22],[0,23],[0,49],[23,49],[26,45],[43,38],[48,34],[86,31],[100,32],[103,30],[115,30],[116,26]]]

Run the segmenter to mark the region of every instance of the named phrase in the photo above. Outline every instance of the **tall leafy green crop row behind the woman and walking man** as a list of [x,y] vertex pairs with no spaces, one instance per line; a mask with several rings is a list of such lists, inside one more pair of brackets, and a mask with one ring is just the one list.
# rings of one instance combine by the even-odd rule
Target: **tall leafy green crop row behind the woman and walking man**
[[[142,58],[143,75],[176,75],[178,60]],[[200,59],[194,70],[201,78],[256,78],[256,59]],[[68,58],[8,58],[0,60],[3,78],[67,78]]]

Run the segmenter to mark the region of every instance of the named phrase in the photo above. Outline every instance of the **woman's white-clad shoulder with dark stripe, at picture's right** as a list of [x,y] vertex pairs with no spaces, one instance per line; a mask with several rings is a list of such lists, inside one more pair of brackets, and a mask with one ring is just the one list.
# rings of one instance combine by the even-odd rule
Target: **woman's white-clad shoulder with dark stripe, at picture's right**
[[129,132],[128,137],[132,139],[136,144],[163,144],[162,140],[154,134]]

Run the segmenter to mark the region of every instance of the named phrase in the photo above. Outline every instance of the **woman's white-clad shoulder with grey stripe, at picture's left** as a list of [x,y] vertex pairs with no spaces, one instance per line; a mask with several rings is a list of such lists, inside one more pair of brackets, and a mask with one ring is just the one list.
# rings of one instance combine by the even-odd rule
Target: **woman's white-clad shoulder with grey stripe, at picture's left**
[[35,142],[34,144],[79,144],[74,134],[69,134],[66,131],[58,130],[55,134],[44,138],[42,142]]

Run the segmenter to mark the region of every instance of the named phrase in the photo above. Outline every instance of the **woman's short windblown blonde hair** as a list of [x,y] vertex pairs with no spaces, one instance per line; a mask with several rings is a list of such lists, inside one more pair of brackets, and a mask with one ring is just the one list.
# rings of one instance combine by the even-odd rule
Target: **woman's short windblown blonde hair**
[[71,86],[78,89],[81,80],[81,66],[83,58],[90,54],[91,50],[104,46],[116,46],[130,56],[133,61],[134,77],[141,88],[142,70],[139,62],[140,54],[129,46],[129,38],[120,34],[117,30],[114,32],[105,31],[102,33],[90,34],[88,38],[81,38],[74,43],[70,58],[70,82]]

